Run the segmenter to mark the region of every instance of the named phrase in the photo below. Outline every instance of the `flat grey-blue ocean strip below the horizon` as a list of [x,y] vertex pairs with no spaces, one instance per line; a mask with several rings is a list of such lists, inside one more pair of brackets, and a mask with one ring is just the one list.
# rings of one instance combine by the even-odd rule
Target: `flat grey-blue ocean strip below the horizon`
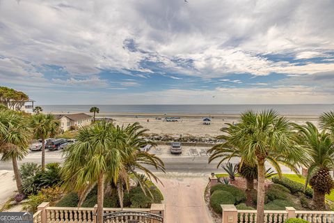
[[180,113],[180,114],[240,114],[246,110],[275,109],[285,115],[319,115],[333,111],[334,104],[319,105],[38,105],[44,112],[89,112],[90,107],[100,112]]

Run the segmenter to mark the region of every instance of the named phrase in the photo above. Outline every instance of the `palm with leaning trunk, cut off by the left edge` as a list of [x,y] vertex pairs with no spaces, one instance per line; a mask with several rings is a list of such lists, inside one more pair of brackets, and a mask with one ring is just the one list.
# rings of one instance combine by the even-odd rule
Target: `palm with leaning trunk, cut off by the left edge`
[[1,161],[12,161],[17,190],[22,191],[17,160],[28,154],[30,139],[26,118],[11,110],[0,110],[0,153]]

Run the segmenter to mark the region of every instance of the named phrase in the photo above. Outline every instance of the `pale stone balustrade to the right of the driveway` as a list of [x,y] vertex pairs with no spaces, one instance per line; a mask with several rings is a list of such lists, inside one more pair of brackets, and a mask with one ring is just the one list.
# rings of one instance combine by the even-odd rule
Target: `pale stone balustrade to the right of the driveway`
[[[222,223],[255,223],[256,210],[237,210],[234,205],[221,205],[223,210]],[[311,223],[334,222],[333,211],[295,210],[264,210],[265,223],[283,223],[289,218],[301,218]]]

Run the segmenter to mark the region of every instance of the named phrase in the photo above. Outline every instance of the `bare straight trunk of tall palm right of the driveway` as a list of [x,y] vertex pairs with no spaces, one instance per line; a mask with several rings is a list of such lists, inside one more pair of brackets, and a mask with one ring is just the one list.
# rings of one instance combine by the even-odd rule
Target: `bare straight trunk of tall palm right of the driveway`
[[256,222],[264,223],[264,159],[257,159],[257,207]]

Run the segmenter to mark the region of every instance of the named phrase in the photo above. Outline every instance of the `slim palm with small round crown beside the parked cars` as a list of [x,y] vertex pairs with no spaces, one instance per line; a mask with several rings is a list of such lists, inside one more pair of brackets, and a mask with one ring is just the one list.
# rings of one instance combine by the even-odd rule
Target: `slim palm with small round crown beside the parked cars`
[[45,139],[54,137],[61,131],[60,122],[52,114],[35,114],[30,123],[35,139],[42,139],[42,171],[45,171]]

